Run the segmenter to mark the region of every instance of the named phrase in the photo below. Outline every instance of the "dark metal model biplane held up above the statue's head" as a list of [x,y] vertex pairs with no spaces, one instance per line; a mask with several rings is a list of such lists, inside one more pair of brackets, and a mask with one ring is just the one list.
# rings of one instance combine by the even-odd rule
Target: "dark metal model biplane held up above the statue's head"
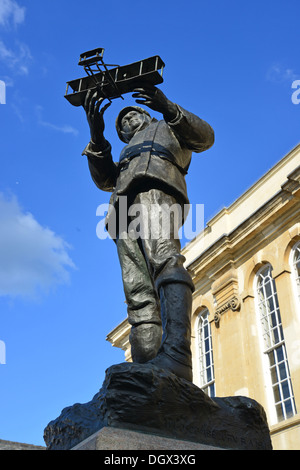
[[104,49],[98,48],[80,54],[78,65],[83,66],[87,76],[67,82],[65,98],[73,106],[84,104],[88,90],[98,90],[99,97],[111,101],[114,98],[123,98],[123,94],[132,92],[137,87],[159,85],[163,82],[165,64],[159,56],[118,66],[105,64],[103,53]]

